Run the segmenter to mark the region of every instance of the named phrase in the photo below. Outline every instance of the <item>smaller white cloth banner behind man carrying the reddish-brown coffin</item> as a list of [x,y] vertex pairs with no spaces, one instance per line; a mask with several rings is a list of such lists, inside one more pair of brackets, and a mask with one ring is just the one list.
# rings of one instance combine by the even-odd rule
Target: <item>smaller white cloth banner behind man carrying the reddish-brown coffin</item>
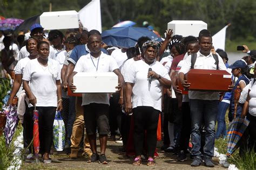
[[228,25],[226,25],[223,29],[217,32],[214,36],[212,36],[212,45],[214,49],[222,49],[225,51],[225,40],[226,40],[226,29]]

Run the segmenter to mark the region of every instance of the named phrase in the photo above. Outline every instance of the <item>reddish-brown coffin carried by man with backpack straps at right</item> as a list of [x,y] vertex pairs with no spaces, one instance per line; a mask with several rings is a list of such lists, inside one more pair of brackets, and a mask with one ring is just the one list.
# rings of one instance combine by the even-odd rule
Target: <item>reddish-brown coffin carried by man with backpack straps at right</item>
[[225,70],[191,69],[186,79],[192,91],[228,91],[232,83],[231,74]]

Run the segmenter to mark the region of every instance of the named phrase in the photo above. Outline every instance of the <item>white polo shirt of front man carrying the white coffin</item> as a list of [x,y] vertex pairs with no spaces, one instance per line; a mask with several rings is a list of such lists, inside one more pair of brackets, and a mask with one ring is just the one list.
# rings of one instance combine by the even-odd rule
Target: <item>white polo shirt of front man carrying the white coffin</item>
[[[116,69],[119,69],[116,60],[114,60],[113,57],[101,52],[98,58],[91,56],[90,53],[85,56],[81,56],[77,61],[74,71],[75,72],[112,72]],[[83,94],[82,106],[89,105],[91,103],[109,105],[109,94],[108,93]]]

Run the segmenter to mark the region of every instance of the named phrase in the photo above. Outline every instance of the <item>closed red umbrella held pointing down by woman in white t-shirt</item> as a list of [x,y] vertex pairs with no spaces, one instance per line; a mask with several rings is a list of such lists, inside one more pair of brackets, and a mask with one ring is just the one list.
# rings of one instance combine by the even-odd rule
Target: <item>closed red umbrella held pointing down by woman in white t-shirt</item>
[[33,111],[33,147],[35,151],[35,159],[36,159],[36,164],[39,163],[39,147],[40,147],[40,142],[39,142],[39,130],[38,130],[38,110],[36,110],[36,105],[35,105],[35,110]]

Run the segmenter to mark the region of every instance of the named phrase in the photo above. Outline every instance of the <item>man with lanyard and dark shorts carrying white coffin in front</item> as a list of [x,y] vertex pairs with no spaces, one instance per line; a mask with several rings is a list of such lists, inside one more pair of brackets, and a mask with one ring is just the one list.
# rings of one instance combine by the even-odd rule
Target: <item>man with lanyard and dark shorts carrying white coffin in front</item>
[[[73,73],[69,78],[71,91],[76,90],[73,85],[73,76],[78,72],[114,72],[118,76],[118,82],[123,89],[124,78],[119,71],[116,61],[109,55],[100,51],[102,37],[91,35],[88,40],[89,54],[79,58]],[[89,82],[90,83],[90,82]],[[116,88],[118,88],[116,87]],[[120,88],[119,88],[120,90]],[[119,103],[123,104],[123,96],[120,96]],[[92,149],[92,156],[89,162],[99,161],[100,164],[108,164],[105,157],[107,134],[109,133],[109,94],[107,93],[86,93],[83,94],[84,121],[86,133]],[[96,129],[99,133],[100,155],[97,154]]]

